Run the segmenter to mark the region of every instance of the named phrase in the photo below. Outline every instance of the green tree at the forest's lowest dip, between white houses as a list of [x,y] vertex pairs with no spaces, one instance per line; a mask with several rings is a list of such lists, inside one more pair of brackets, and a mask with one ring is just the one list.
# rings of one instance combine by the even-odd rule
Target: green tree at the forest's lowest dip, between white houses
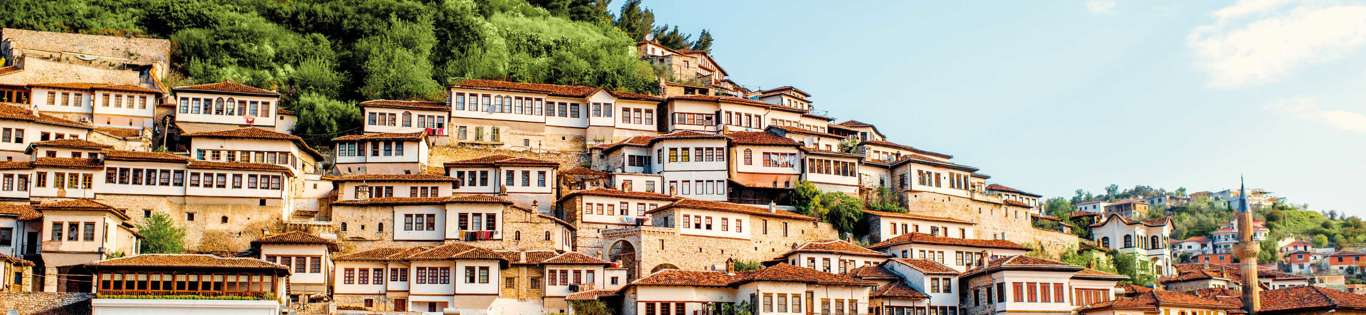
[[309,143],[326,143],[342,134],[357,131],[361,109],[351,102],[331,100],[317,93],[305,93],[294,102],[299,121],[294,134]]

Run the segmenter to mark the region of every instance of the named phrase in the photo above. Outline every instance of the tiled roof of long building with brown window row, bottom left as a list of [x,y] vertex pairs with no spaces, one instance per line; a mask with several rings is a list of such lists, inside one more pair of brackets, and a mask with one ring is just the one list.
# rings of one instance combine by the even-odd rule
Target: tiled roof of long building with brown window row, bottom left
[[260,269],[288,273],[288,267],[255,258],[221,258],[202,254],[143,254],[90,263],[101,267],[167,267],[167,269]]

